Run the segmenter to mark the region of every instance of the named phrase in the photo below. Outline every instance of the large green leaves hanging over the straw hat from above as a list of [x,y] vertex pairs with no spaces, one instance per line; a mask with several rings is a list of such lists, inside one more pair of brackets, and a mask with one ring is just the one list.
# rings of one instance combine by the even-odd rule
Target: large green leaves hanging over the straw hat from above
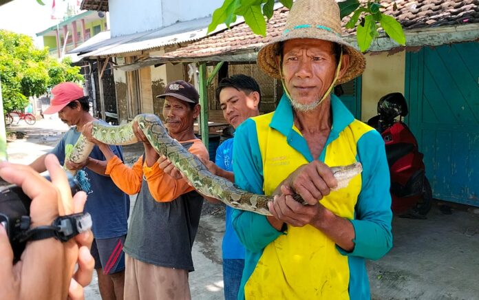
[[[317,0],[321,1],[321,0]],[[291,8],[292,0],[279,0],[286,8]],[[341,10],[341,19],[352,14],[346,28],[356,27],[356,39],[359,49],[365,52],[372,41],[379,36],[381,26],[385,33],[399,45],[405,45],[406,38],[401,24],[381,12],[381,0],[345,0],[338,2]],[[273,17],[275,0],[224,0],[223,5],[213,12],[213,18],[208,27],[208,32],[215,30],[217,25],[225,23],[229,28],[236,21],[236,16],[243,16],[245,23],[255,34],[266,36],[266,19]],[[394,10],[396,10],[394,3]]]

